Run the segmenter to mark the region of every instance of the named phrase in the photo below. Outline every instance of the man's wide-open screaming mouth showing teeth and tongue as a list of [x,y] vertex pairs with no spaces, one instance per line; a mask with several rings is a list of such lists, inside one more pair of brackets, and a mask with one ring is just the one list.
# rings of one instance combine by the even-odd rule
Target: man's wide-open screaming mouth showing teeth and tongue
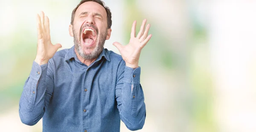
[[84,45],[90,46],[93,45],[93,43],[96,40],[96,32],[92,28],[85,28],[84,32],[82,34],[82,39],[84,42]]

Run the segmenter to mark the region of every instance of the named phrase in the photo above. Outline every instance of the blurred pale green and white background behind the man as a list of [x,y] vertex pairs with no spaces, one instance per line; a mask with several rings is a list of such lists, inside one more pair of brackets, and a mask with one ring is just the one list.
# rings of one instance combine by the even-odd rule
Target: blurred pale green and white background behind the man
[[[73,46],[68,26],[80,0],[0,0],[0,132],[41,132],[21,123],[18,103],[36,55],[36,13],[52,43]],[[138,132],[256,132],[255,0],[104,0],[111,39],[151,24],[140,66],[147,117]],[[121,123],[121,132],[130,132]]]

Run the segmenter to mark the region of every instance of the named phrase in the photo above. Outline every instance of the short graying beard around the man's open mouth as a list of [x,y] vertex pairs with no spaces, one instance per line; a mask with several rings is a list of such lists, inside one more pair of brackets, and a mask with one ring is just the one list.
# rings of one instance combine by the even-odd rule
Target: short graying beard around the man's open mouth
[[[96,46],[94,47],[88,47],[87,49],[93,49],[93,51],[90,54],[85,54],[84,50],[81,47],[81,43],[80,43],[80,36],[81,36],[81,31],[78,35],[76,34],[75,30],[73,29],[73,34],[74,34],[74,43],[75,43],[75,49],[76,52],[85,60],[93,60],[96,59],[99,54],[102,52],[102,50],[104,49],[104,43],[107,37],[107,32],[108,29],[106,30],[106,32],[103,32],[102,34],[99,34],[98,37],[96,38],[97,40],[99,40],[98,44],[96,44]],[[96,41],[97,41],[96,40]]]

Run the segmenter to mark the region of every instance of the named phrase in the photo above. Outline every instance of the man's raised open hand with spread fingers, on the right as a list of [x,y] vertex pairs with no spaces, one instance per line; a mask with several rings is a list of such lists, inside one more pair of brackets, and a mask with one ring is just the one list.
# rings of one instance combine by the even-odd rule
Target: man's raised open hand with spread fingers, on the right
[[118,42],[113,43],[121,53],[122,59],[125,60],[125,65],[133,69],[139,67],[140,52],[152,37],[152,34],[148,35],[150,24],[145,28],[146,23],[147,20],[143,20],[140,32],[136,37],[136,21],[134,21],[131,28],[131,39],[128,45],[123,46]]

